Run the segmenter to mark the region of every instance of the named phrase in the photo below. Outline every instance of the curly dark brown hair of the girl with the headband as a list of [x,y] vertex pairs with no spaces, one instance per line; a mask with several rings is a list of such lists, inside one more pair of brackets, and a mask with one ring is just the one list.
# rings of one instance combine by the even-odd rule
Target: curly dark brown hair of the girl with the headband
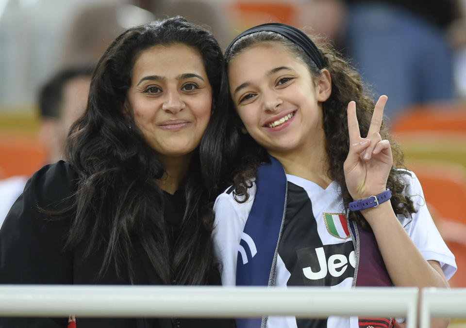
[[[249,34],[236,41],[229,53],[225,54],[225,65],[228,66],[228,63],[239,52],[263,42],[278,42],[282,44],[292,56],[299,58],[308,66],[314,80],[321,74],[316,64],[300,46],[287,40],[280,34],[268,31]],[[314,42],[322,54],[325,68],[330,71],[332,76],[332,94],[322,105],[323,125],[326,136],[325,148],[329,160],[329,170],[327,174],[340,185],[343,203],[345,208],[348,208],[348,204],[352,202],[353,199],[346,186],[345,174],[343,171],[343,163],[350,149],[347,107],[351,100],[356,102],[360,132],[362,136],[365,136],[367,135],[372,118],[374,102],[371,100],[369,94],[366,93],[368,89],[363,84],[356,70],[350,66],[349,61],[344,60],[330,44],[322,41]],[[223,85],[225,91],[228,91],[227,74],[224,76]],[[234,130],[231,134],[230,141],[224,141],[225,154],[230,156],[231,160],[229,162],[233,163],[233,165],[224,170],[225,172],[228,172],[228,170],[236,172],[232,181],[235,187],[235,194],[245,195],[246,198],[243,198],[243,200],[246,201],[249,197],[247,189],[251,187],[251,179],[255,177],[259,164],[268,160],[267,152],[265,148],[254,141],[249,134],[244,135],[240,132],[243,125],[231,100],[229,102],[228,112],[224,113],[224,121],[230,124],[229,127],[225,125],[225,128]],[[233,122],[234,127],[231,126]],[[403,154],[399,145],[391,138],[384,124],[380,129],[380,134],[382,139],[390,141],[394,159],[394,166],[390,171],[387,181],[387,187],[390,188],[392,192],[392,207],[397,215],[401,214],[410,217],[411,213],[415,212],[415,208],[409,196],[403,194],[406,185],[404,179],[399,177],[401,173],[396,169],[403,166]],[[230,147],[228,147],[229,145]],[[238,160],[234,162],[234,158],[238,158]],[[350,219],[355,219],[363,227],[370,229],[366,219],[364,219],[360,212],[351,212]]]

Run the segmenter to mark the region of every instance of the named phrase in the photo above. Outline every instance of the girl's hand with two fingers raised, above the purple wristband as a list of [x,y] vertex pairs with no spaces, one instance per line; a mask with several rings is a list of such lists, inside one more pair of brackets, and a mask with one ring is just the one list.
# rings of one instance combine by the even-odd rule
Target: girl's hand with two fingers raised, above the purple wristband
[[382,140],[379,134],[386,102],[387,96],[380,96],[375,105],[366,138],[361,138],[359,132],[356,103],[351,101],[348,104],[350,151],[343,170],[346,185],[353,200],[377,195],[386,190],[388,174],[393,164],[390,142]]

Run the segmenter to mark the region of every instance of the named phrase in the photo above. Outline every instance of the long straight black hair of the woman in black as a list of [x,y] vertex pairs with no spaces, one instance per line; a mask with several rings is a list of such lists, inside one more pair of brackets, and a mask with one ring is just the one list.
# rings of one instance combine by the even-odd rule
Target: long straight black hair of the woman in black
[[103,249],[100,276],[115,266],[118,275],[134,282],[131,257],[137,240],[164,283],[206,282],[212,263],[213,221],[207,204],[216,190],[209,190],[203,181],[207,176],[201,174],[199,151],[192,156],[183,181],[186,208],[181,233],[170,241],[164,223],[164,194],[156,183],[165,168],[124,111],[138,55],[153,46],[174,44],[200,52],[215,113],[223,68],[221,49],[209,31],[174,17],[130,28],[115,39],[94,71],[87,110],[70,130],[67,158],[79,180],[65,247],[71,249],[85,238],[85,256]]

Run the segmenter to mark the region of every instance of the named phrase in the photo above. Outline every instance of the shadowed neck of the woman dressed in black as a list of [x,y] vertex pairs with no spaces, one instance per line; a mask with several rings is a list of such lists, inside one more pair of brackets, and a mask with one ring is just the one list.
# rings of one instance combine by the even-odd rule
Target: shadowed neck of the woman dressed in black
[[189,171],[191,157],[191,154],[180,157],[159,156],[160,161],[165,167],[164,176],[157,180],[157,184],[162,190],[172,195],[178,190]]

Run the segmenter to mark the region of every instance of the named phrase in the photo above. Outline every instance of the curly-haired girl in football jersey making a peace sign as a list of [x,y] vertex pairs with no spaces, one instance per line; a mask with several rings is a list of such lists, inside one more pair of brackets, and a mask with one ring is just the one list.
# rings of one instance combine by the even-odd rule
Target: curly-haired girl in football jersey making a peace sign
[[[374,107],[347,62],[280,23],[241,33],[225,59],[233,104],[223,120],[234,125],[229,149],[240,159],[232,162],[238,168],[233,186],[214,206],[222,283],[448,287],[454,256],[416,175],[402,169],[399,147],[390,141],[383,124],[387,97]],[[394,324],[391,318],[336,316],[236,323]]]

